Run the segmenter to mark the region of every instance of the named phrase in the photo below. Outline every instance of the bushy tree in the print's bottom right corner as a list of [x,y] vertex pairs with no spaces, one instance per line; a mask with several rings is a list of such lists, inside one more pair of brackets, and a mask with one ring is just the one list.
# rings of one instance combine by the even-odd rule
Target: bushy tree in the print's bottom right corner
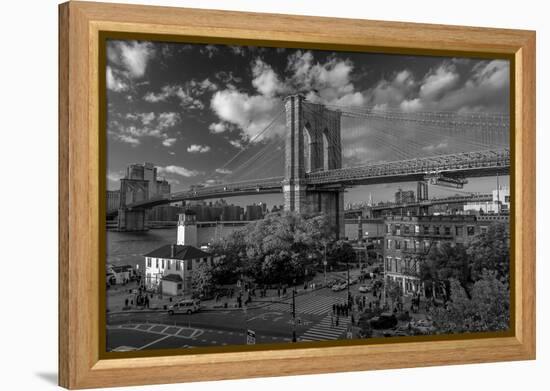
[[445,307],[434,307],[430,316],[439,333],[507,330],[510,323],[510,290],[485,271],[473,284],[470,297],[456,279],[450,280],[451,299]]

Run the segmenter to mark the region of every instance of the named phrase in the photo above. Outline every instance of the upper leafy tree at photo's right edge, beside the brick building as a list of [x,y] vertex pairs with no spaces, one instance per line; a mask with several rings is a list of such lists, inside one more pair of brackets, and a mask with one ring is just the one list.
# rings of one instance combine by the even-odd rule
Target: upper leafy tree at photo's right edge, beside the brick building
[[468,248],[472,279],[477,281],[484,270],[495,271],[503,282],[510,279],[510,239],[504,223],[491,224],[486,233],[476,237]]

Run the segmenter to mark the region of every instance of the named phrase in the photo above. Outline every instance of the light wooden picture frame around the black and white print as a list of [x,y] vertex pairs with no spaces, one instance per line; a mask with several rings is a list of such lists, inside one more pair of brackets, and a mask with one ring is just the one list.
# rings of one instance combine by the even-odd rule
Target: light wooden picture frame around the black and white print
[[[512,314],[506,336],[105,358],[99,260],[105,226],[100,36],[508,58],[513,111]],[[184,8],[59,6],[59,384],[90,388],[535,358],[535,33]],[[101,179],[103,177],[103,179]],[[104,293],[103,293],[104,295]]]

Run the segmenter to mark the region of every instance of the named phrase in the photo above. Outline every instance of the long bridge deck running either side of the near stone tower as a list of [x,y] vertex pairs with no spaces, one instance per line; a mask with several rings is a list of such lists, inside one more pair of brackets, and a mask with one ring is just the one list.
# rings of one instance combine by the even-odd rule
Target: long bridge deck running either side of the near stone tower
[[[312,191],[331,187],[351,187],[377,183],[414,182],[423,180],[428,174],[445,173],[464,177],[508,174],[510,151],[478,151],[426,158],[378,162],[359,167],[317,171],[306,174],[306,181]],[[148,200],[126,205],[128,209],[151,208],[185,200],[228,198],[251,194],[282,193],[284,177],[213,185],[178,193],[165,194]]]

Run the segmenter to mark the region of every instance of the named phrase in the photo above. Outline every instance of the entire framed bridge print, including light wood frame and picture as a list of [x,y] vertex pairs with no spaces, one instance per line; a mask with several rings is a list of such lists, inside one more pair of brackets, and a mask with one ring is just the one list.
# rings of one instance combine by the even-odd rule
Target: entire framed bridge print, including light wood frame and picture
[[60,385],[534,359],[534,32],[59,12]]

